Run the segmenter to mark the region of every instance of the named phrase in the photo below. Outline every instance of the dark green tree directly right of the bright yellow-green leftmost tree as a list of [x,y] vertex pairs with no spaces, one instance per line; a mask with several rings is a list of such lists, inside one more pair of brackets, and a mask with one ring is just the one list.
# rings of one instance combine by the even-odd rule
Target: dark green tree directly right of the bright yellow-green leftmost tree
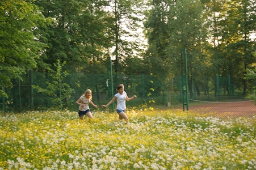
[[86,1],[43,0],[35,1],[35,4],[43,9],[43,15],[46,18],[54,20],[47,28],[40,28],[40,32],[44,35],[40,41],[47,43],[48,48],[45,49],[44,57],[39,61],[46,65],[39,65],[39,69],[44,70],[47,67],[53,69],[58,59],[73,66],[84,62],[81,59],[84,48],[78,23],[79,16],[84,14],[82,6],[87,6]]

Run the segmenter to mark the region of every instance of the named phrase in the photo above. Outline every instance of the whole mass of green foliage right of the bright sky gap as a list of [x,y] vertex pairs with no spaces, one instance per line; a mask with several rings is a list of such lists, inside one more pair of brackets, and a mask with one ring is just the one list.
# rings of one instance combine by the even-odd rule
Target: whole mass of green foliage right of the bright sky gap
[[254,1],[149,2],[144,25],[147,57],[157,61],[153,66],[167,65],[170,69],[161,70],[165,74],[181,75],[181,53],[186,48],[191,94],[192,84],[204,88],[202,75],[216,74],[232,76],[232,83],[244,96],[251,90],[254,85],[243,78],[246,69],[255,67],[255,41],[251,36],[255,30]]

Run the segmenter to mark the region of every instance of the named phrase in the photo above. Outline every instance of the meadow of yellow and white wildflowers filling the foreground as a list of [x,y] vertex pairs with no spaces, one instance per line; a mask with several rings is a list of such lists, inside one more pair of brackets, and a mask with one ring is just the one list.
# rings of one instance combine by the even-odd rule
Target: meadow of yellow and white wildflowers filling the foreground
[[0,169],[256,169],[256,118],[183,111],[0,114]]

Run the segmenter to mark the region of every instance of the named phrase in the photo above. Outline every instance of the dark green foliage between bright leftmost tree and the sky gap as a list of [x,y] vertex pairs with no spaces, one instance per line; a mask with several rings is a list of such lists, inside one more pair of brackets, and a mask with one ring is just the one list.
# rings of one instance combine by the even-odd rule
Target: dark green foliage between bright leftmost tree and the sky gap
[[43,8],[45,17],[54,18],[47,28],[40,28],[44,35],[41,41],[49,45],[44,57],[39,59],[46,64],[38,65],[40,70],[53,66],[58,59],[78,71],[99,73],[99,70],[106,70],[99,62],[108,56],[107,50],[112,46],[112,22],[110,14],[104,10],[107,1],[53,0],[35,1],[35,4]]

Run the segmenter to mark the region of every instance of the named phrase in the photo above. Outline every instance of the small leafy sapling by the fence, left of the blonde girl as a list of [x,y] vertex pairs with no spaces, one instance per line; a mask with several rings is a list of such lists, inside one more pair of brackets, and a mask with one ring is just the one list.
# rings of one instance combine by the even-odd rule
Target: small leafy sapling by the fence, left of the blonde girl
[[62,71],[62,67],[65,63],[66,62],[60,63],[58,60],[57,64],[54,63],[56,71],[49,69],[49,76],[51,76],[52,81],[46,82],[47,88],[33,86],[37,92],[50,96],[54,107],[58,109],[68,107],[73,103],[73,101],[69,100],[73,93],[73,89],[70,88],[69,84],[64,83],[64,78],[68,75],[66,71]]

